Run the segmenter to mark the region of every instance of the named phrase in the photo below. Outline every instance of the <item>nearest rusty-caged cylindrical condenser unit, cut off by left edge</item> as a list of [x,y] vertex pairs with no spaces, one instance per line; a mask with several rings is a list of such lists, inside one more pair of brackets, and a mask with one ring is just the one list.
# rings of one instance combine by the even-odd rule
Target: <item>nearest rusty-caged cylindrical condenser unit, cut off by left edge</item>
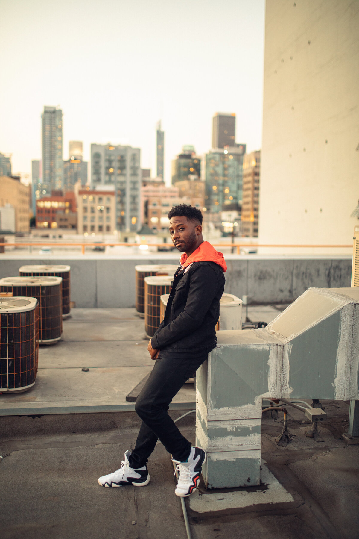
[[35,383],[39,354],[36,298],[0,298],[0,392],[22,392]]

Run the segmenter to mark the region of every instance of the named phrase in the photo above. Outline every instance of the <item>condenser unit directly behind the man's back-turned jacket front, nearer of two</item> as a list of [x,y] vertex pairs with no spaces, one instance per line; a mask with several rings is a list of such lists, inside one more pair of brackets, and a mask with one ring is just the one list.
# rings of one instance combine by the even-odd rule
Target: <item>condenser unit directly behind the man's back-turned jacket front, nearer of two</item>
[[170,293],[172,280],[166,275],[145,277],[145,331],[149,337],[160,324],[161,295]]

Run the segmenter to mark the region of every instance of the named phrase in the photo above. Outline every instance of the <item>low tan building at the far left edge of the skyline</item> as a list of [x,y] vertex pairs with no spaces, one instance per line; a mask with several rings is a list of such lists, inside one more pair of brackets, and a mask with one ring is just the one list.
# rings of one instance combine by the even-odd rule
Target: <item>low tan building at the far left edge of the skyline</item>
[[15,208],[16,232],[29,232],[30,186],[9,176],[0,176],[0,206],[5,204]]

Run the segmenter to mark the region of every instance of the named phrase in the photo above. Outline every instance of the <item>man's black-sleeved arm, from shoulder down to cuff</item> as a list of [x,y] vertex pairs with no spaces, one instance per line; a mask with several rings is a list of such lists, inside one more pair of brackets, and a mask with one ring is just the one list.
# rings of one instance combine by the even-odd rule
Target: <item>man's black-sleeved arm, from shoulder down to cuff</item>
[[208,264],[195,266],[184,311],[151,339],[153,349],[163,348],[199,328],[219,289],[220,281]]

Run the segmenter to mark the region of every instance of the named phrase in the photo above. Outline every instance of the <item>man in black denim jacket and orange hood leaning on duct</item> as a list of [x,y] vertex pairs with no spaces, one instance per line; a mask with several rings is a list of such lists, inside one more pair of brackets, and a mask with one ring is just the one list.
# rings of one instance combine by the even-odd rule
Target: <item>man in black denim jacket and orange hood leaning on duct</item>
[[177,464],[175,494],[185,497],[198,486],[207,455],[182,436],[167,413],[168,405],[216,346],[215,326],[227,266],[222,253],[203,241],[198,208],[175,206],[168,219],[172,241],[182,253],[181,265],[174,274],[165,318],[148,345],[156,363],[135,405],[142,425],[135,449],[125,452],[121,468],[100,477],[98,483],[103,487],[147,485],[146,463],[159,439]]

